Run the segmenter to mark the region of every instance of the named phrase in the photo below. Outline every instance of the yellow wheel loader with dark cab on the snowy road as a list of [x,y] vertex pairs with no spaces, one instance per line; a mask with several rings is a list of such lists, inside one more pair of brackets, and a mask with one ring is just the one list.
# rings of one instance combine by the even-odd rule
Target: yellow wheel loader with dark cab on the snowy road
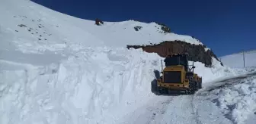
[[169,94],[171,91],[194,94],[202,88],[202,77],[194,73],[194,62],[188,64],[188,54],[171,54],[165,57],[165,68],[162,64],[162,76],[157,79],[157,91],[160,94]]

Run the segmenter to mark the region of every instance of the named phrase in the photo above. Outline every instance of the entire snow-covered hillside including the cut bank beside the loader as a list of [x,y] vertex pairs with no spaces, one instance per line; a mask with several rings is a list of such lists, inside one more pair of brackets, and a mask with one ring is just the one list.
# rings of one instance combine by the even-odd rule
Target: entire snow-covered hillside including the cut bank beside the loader
[[[82,20],[26,0],[0,1],[0,123],[115,123],[158,96],[157,54],[126,45],[190,36],[158,33],[155,23]],[[136,32],[134,26],[142,26]],[[155,27],[157,26],[157,27]],[[195,71],[206,82],[247,73],[219,66]]]

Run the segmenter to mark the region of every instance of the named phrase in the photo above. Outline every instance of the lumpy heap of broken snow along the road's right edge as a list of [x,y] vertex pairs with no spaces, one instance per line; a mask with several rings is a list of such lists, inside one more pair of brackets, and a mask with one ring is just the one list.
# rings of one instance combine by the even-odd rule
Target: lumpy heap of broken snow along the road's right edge
[[243,123],[248,116],[256,112],[256,76],[240,83],[216,90],[220,93],[218,101],[223,113],[237,123]]

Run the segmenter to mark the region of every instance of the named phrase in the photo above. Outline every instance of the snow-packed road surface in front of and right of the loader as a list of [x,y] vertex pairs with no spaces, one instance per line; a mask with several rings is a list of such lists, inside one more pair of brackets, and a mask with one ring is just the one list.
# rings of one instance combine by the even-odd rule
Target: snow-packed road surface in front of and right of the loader
[[[236,123],[230,115],[232,108],[223,113],[218,103],[218,93],[214,91],[243,83],[243,79],[256,77],[256,73],[237,76],[211,82],[197,91],[195,95],[158,96],[145,106],[130,113],[120,123],[133,124],[233,124]],[[253,123],[256,116],[251,115],[245,122]]]

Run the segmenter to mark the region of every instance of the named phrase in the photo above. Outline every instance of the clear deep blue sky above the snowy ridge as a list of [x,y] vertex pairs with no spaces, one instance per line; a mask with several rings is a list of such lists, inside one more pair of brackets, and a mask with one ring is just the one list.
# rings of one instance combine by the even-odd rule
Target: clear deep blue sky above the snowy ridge
[[194,36],[221,57],[256,49],[253,0],[32,0],[85,20],[165,23],[171,32]]

